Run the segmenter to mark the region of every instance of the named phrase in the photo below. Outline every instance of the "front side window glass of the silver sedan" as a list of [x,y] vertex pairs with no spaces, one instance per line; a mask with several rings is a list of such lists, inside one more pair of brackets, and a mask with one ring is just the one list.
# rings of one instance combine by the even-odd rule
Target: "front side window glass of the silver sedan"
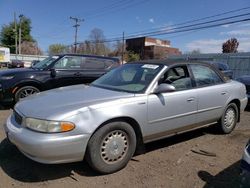
[[185,65],[170,68],[160,83],[173,85],[177,91],[192,88],[191,78]]

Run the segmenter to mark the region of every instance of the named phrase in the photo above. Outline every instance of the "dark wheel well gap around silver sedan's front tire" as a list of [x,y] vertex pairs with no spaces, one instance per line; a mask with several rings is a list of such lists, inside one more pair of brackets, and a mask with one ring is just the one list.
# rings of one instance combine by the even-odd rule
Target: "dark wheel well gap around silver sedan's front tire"
[[110,120],[105,121],[104,123],[102,123],[101,126],[98,127],[98,129],[100,127],[102,127],[102,126],[105,126],[108,123],[117,122],[117,121],[126,122],[126,123],[130,124],[132,126],[132,128],[134,129],[135,135],[136,135],[136,151],[135,151],[135,154],[145,153],[145,148],[144,148],[144,142],[143,142],[143,138],[142,138],[141,128],[139,126],[139,123],[136,120],[134,120],[133,118],[131,118],[131,117],[113,118],[113,119],[110,119]]

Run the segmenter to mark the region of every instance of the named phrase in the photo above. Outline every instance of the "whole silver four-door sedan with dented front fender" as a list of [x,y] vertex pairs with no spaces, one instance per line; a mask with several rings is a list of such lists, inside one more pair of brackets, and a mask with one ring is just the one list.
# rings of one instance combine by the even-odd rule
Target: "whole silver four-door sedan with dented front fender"
[[41,163],[84,158],[100,173],[126,166],[144,143],[218,123],[230,133],[247,104],[243,84],[206,63],[144,61],[90,86],[29,96],[16,104],[6,135]]

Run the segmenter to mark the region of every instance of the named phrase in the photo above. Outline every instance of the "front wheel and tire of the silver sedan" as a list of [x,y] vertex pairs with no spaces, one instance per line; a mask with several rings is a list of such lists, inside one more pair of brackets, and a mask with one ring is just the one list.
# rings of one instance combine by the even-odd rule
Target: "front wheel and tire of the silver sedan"
[[90,138],[86,160],[101,174],[109,174],[124,168],[133,157],[136,148],[134,129],[126,122],[111,122]]

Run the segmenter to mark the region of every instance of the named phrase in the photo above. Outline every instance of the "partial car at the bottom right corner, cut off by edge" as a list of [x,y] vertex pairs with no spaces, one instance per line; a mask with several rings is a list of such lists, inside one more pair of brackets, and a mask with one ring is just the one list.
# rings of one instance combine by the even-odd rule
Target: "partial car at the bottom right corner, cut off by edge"
[[250,187],[250,140],[244,148],[241,159],[241,187]]

